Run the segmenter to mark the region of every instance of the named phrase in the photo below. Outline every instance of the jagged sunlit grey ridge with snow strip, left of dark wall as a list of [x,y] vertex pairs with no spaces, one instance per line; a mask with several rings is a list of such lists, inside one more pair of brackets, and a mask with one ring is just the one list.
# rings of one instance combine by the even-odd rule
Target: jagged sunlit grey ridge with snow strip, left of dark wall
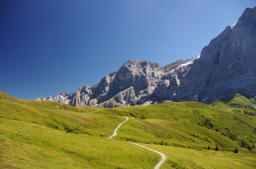
[[[179,60],[160,67],[158,63],[130,60],[114,73],[108,73],[100,83],[84,85],[76,93],[60,93],[52,101],[71,106],[121,107],[136,106],[157,100],[172,100],[180,78],[190,70],[190,64],[200,56]],[[171,70],[174,69],[174,70]],[[171,70],[171,71],[169,71]],[[167,71],[167,72],[166,72]],[[50,100],[37,98],[37,100]]]

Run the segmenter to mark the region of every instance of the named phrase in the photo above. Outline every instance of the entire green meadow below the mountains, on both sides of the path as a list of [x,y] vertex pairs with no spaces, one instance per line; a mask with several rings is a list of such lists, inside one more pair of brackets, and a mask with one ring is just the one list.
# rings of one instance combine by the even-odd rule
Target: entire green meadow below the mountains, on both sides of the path
[[[128,141],[164,153],[161,169],[255,168],[255,106],[255,98],[236,94],[230,102],[212,105],[100,109],[0,92],[0,168],[144,169],[160,161],[159,154]],[[129,120],[108,139],[122,116]]]

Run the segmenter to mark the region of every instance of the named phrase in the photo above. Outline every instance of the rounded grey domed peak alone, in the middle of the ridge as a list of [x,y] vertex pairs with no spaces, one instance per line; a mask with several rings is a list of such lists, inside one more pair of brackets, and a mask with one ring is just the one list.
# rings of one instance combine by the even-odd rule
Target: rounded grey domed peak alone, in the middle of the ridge
[[128,61],[117,71],[113,83],[109,85],[107,99],[115,96],[114,99],[119,103],[142,104],[152,98],[157,86],[156,80],[163,74],[164,70],[158,63]]

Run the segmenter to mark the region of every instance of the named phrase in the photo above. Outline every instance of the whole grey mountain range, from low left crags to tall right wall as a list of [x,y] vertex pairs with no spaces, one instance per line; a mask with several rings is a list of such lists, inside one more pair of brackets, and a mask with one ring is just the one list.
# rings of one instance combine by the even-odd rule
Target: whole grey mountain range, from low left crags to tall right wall
[[237,23],[205,46],[201,55],[160,67],[130,60],[92,87],[76,93],[37,98],[71,106],[121,107],[162,100],[229,101],[236,93],[256,96],[256,7],[246,8]]

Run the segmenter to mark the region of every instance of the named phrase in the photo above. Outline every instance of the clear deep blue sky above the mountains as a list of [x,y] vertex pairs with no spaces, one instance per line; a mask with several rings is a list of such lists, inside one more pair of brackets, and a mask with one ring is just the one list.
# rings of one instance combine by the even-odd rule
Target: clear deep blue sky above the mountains
[[164,67],[200,55],[255,0],[0,1],[0,90],[55,97],[126,61]]

